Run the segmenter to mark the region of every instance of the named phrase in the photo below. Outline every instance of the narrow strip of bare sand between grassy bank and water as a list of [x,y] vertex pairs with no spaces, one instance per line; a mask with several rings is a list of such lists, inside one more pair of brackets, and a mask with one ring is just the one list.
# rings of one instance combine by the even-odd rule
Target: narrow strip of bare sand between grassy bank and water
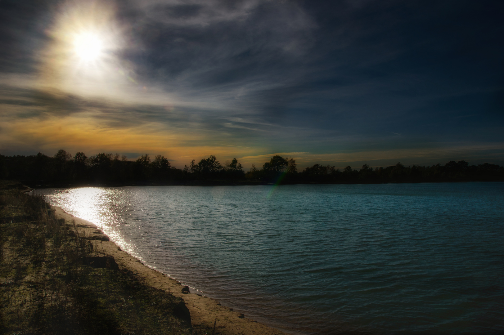
[[247,318],[242,313],[233,311],[232,308],[222,306],[217,300],[200,296],[196,293],[182,293],[180,282],[167,275],[151,269],[137,258],[120,249],[120,247],[105,235],[95,224],[75,217],[59,207],[51,206],[56,218],[65,221],[75,221],[80,229],[89,230],[94,240],[99,241],[98,247],[106,255],[113,256],[119,267],[132,271],[134,276],[145,282],[146,285],[171,293],[181,298],[191,314],[193,326],[202,325],[214,328],[215,334],[222,335],[286,335],[277,328],[269,327],[263,323]]

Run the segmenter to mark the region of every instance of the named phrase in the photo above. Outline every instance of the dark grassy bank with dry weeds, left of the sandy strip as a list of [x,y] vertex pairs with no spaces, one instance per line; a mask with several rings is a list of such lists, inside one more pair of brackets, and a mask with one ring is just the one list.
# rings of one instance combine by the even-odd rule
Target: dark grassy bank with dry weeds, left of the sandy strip
[[197,332],[182,299],[119,269],[101,243],[42,196],[0,190],[0,333]]

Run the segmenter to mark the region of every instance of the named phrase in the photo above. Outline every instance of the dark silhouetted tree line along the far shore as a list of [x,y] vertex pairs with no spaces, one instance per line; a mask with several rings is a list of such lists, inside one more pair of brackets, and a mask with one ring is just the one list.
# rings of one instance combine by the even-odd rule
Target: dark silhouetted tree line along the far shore
[[364,164],[359,169],[347,166],[315,164],[297,171],[292,158],[273,156],[262,167],[255,164],[244,171],[236,158],[220,163],[214,155],[199,162],[192,160],[181,169],[171,166],[162,155],[142,155],[136,161],[120,154],[99,153],[87,157],[83,152],[74,156],[59,150],[49,157],[42,153],[30,156],[0,155],[0,179],[20,180],[34,184],[145,184],[205,180],[255,180],[264,183],[333,184],[383,182],[446,182],[504,180],[504,167],[495,164],[469,165],[465,161],[451,161],[445,165],[371,168]]

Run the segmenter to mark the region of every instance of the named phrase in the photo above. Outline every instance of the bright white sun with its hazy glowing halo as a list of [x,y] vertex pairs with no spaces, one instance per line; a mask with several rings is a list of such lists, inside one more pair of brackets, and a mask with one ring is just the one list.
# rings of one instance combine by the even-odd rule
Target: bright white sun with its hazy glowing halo
[[[1,1],[1,0],[0,0]],[[113,2],[66,0],[47,29],[41,85],[81,95],[109,95],[131,79],[130,63],[118,52],[124,46]]]

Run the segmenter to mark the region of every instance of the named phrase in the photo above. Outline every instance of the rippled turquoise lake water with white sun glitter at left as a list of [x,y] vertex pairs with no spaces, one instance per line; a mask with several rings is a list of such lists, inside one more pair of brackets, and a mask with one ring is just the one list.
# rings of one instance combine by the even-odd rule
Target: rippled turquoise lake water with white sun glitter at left
[[292,333],[504,332],[504,183],[38,191]]

